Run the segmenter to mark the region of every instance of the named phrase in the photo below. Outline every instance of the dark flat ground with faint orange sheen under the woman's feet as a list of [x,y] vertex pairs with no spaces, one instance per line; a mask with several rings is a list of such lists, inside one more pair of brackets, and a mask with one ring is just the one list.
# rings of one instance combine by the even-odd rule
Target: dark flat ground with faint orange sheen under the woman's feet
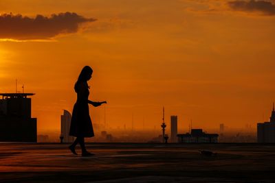
[[87,143],[91,157],[68,146],[0,143],[0,182],[275,182],[274,144]]

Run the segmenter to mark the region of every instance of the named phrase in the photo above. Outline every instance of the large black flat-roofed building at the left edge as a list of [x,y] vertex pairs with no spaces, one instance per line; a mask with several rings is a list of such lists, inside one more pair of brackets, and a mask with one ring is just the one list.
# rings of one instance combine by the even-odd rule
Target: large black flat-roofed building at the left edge
[[0,141],[36,142],[37,121],[31,115],[34,93],[0,93]]

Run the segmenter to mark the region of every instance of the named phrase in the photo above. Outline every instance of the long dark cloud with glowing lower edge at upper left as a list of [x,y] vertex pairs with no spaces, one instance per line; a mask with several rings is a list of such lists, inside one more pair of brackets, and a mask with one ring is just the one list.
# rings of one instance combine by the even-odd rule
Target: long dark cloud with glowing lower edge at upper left
[[1,14],[0,39],[48,40],[61,34],[76,33],[80,24],[93,21],[96,19],[86,19],[74,12],[52,14],[50,17],[38,14],[35,18]]

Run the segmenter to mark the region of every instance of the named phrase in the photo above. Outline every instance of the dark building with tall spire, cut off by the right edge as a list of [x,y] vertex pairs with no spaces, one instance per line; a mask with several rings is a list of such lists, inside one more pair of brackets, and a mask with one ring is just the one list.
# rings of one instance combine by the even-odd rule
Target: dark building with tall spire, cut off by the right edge
[[258,143],[275,143],[275,110],[270,117],[270,122],[257,124],[257,141]]

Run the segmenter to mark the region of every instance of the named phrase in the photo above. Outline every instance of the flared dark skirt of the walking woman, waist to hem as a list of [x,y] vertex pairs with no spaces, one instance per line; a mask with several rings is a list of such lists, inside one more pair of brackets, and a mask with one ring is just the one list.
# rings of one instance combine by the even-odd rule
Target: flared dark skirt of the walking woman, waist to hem
[[94,136],[94,129],[91,123],[91,117],[89,115],[88,103],[76,102],[74,104],[69,135],[76,137]]

